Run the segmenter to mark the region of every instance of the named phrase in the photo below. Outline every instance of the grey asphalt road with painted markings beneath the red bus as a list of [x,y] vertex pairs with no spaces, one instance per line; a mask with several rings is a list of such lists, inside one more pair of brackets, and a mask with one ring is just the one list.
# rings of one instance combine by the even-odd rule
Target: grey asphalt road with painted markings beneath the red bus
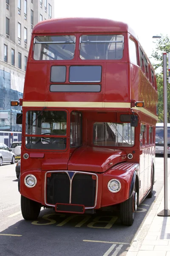
[[119,212],[110,209],[95,215],[73,215],[41,208],[38,221],[25,221],[20,210],[15,166],[0,167],[2,256],[125,256],[164,183],[164,158],[156,157],[153,197],[146,198],[138,207],[131,227],[122,226]]

